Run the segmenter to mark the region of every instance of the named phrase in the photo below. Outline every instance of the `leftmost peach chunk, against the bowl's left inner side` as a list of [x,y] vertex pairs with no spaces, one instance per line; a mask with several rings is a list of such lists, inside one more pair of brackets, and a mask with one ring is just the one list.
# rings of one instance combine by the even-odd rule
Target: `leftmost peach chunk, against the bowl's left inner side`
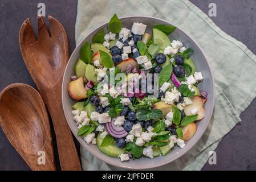
[[74,100],[81,100],[87,97],[86,89],[84,89],[84,78],[80,77],[78,80],[71,81],[68,84],[68,94]]

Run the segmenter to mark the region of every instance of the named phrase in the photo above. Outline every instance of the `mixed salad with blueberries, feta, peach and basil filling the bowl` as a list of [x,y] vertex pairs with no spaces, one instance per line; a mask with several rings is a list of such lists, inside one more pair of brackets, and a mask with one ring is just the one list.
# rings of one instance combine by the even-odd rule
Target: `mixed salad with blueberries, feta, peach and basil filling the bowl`
[[191,47],[170,40],[176,27],[114,15],[80,48],[68,83],[76,135],[121,162],[148,160],[184,148],[205,117],[208,94]]

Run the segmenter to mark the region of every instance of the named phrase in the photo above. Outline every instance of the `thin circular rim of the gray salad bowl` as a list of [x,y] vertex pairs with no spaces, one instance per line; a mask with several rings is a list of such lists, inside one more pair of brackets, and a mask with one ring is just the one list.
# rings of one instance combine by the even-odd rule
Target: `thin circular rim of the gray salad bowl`
[[[178,30],[180,30],[183,34],[185,34],[186,36],[188,36],[192,42],[198,47],[201,55],[204,57],[204,59],[206,60],[206,65],[208,66],[209,68],[209,76],[210,76],[210,79],[212,80],[212,83],[213,83],[213,89],[212,89],[212,92],[213,92],[213,104],[210,108],[210,118],[212,118],[212,114],[213,114],[213,109],[214,109],[214,104],[215,104],[215,97],[216,97],[216,90],[215,90],[215,85],[214,85],[214,78],[213,78],[213,72],[212,72],[212,68],[210,67],[210,64],[209,64],[209,61],[206,59],[206,56],[205,56],[205,53],[202,51],[202,48],[197,44],[197,42],[191,37],[189,36],[188,34],[186,34],[186,32],[184,30],[182,30],[182,28],[176,26],[175,24],[173,23],[170,23],[168,22],[167,20],[164,20],[164,19],[161,19],[161,18],[156,18],[156,17],[153,17],[153,16],[122,16],[121,18],[119,18],[120,20],[124,20],[124,19],[129,19],[129,18],[151,18],[151,19],[156,19],[156,20],[160,20],[161,22],[164,22],[166,24],[170,24],[170,25],[173,25],[175,26],[176,28],[178,28]],[[64,97],[63,97],[63,90],[64,90],[64,78],[66,77],[66,73],[67,73],[67,68],[68,68],[68,64],[70,63],[71,61],[71,58],[74,56],[75,52],[78,51],[78,48],[81,46],[81,44],[84,42],[85,39],[87,39],[88,36],[91,36],[93,32],[95,32],[96,30],[98,30],[99,28],[102,28],[102,27],[105,27],[108,23],[103,23],[101,24],[100,26],[98,26],[97,28],[94,28],[94,30],[90,31],[90,33],[85,36],[79,43],[78,45],[76,46],[76,48],[74,49],[74,51],[72,52],[71,56],[70,56],[70,59],[68,60],[68,63],[66,65],[66,68],[65,68],[65,71],[64,71],[64,75],[63,75],[63,80],[62,80],[62,106],[63,106],[63,111],[64,111]],[[75,138],[78,140],[79,144],[82,145],[82,147],[86,148],[86,150],[88,152],[90,152],[90,154],[92,154],[93,156],[96,156],[97,159],[100,159],[100,160],[103,160],[103,162],[107,163],[107,164],[111,164],[112,166],[115,166],[115,167],[121,167],[121,168],[125,168],[125,169],[151,169],[151,168],[156,168],[156,167],[161,167],[161,166],[164,166],[166,164],[169,164],[171,162],[173,162],[174,160],[177,160],[178,158],[180,158],[181,156],[185,155],[186,152],[188,152],[192,147],[194,147],[194,145],[202,138],[202,135],[205,134],[205,131],[209,125],[209,122],[210,122],[210,118],[208,119],[208,121],[205,121],[206,122],[206,125],[202,128],[202,133],[200,135],[198,135],[197,138],[195,138],[193,140],[193,143],[190,144],[190,146],[188,148],[186,148],[185,150],[181,149],[181,151],[178,153],[178,155],[176,155],[174,158],[172,159],[169,159],[169,160],[165,160],[165,162],[162,162],[162,163],[159,163],[159,164],[153,164],[152,166],[149,166],[149,167],[129,167],[129,166],[124,166],[122,165],[121,163],[120,164],[116,164],[116,163],[113,163],[111,162],[111,160],[107,160],[105,158],[102,158],[100,155],[98,154],[94,154],[94,151],[91,149],[91,147],[89,145],[84,145],[84,143],[82,143],[82,141],[84,142],[83,139],[79,138],[76,136],[76,133],[75,131],[72,129],[70,123],[68,122],[68,117],[67,117],[67,114],[66,114],[66,111],[64,111],[64,115],[66,117],[66,121],[68,123],[68,126],[70,127],[70,130],[72,131],[72,133],[75,135]],[[106,154],[104,154],[106,155]]]

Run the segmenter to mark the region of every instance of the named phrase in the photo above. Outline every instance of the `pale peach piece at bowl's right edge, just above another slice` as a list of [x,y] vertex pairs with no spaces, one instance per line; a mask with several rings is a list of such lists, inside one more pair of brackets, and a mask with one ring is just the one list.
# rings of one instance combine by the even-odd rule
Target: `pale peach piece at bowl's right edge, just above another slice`
[[184,113],[186,115],[194,115],[194,114],[192,114],[191,110],[197,109],[198,117],[197,117],[196,121],[200,121],[201,119],[203,119],[205,117],[204,104],[205,104],[206,99],[201,98],[199,96],[194,96],[191,98],[191,100],[192,100],[192,104],[185,106]]

